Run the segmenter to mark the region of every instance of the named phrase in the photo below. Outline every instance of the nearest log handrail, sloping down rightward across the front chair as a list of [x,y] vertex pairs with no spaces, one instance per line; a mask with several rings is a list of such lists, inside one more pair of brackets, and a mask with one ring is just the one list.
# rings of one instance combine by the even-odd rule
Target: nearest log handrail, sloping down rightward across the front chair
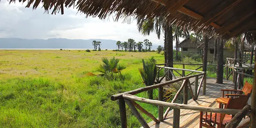
[[237,109],[211,108],[211,107],[178,104],[178,103],[168,103],[168,102],[164,102],[164,101],[149,100],[149,99],[141,98],[141,97],[131,95],[131,94],[123,94],[122,97],[124,99],[130,100],[130,101],[138,101],[138,102],[142,102],[142,103],[148,103],[148,104],[152,104],[152,105],[177,108],[177,109],[188,109],[188,110],[212,112],[212,113],[222,113],[222,114],[230,114],[230,115],[236,115],[240,111]]

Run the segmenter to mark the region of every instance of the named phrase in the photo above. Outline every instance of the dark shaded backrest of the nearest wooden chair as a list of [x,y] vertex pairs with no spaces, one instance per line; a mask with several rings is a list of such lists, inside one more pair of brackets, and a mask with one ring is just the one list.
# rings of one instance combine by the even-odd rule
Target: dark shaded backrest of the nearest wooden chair
[[226,108],[228,109],[243,109],[246,106],[250,95],[239,96],[238,98],[230,98]]

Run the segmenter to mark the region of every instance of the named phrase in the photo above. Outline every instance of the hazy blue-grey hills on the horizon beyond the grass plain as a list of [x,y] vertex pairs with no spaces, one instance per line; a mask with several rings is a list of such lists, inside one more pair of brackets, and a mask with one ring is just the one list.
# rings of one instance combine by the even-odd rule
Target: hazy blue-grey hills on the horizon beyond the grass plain
[[[0,38],[0,49],[93,49],[92,41],[101,41],[101,49],[117,49],[117,40],[89,39],[71,40],[63,38],[20,39]],[[158,46],[153,45],[152,49]]]

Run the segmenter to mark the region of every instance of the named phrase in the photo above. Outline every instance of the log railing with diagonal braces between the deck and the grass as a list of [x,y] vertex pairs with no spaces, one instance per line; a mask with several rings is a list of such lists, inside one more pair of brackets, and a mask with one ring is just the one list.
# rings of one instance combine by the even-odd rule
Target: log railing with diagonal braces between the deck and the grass
[[[119,108],[120,108],[120,115],[121,115],[121,127],[122,128],[127,128],[125,103],[127,103],[128,107],[132,110],[133,114],[140,121],[141,125],[144,128],[149,128],[147,122],[142,118],[142,116],[137,111],[137,109],[139,109],[142,113],[144,113],[145,115],[150,117],[156,123],[159,123],[160,121],[163,121],[166,118],[166,116],[167,116],[167,114],[168,114],[168,112],[171,108],[178,108],[179,106],[181,107],[183,104],[188,103],[188,92],[190,92],[193,99],[196,100],[198,95],[199,95],[200,88],[203,85],[203,81],[205,81],[205,83],[206,83],[206,73],[202,72],[202,71],[189,70],[189,69],[180,69],[180,68],[173,68],[173,67],[163,67],[163,66],[158,66],[158,65],[156,67],[158,68],[158,75],[159,75],[161,69],[166,69],[167,72],[165,73],[165,75],[168,76],[167,74],[172,74],[172,78],[174,78],[174,79],[170,80],[170,81],[160,82],[160,81],[163,80],[164,77],[161,77],[161,78],[158,77],[156,79],[156,84],[155,85],[151,85],[151,86],[147,86],[147,87],[143,87],[143,88],[138,88],[138,89],[135,89],[135,90],[132,90],[132,91],[124,92],[124,93],[121,93],[121,94],[115,94],[115,95],[111,96],[112,101],[119,100]],[[180,77],[175,77],[173,71],[177,71],[177,72],[182,71],[183,75],[180,76]],[[185,71],[186,72],[191,72],[192,74],[189,74],[189,75],[185,76],[185,74],[183,73]],[[193,82],[193,83],[195,83],[194,92],[193,92],[192,87],[191,87],[191,84],[193,84],[193,83],[190,83],[190,81],[189,81],[190,78],[195,78],[195,81]],[[201,78],[201,81],[198,85],[198,79],[199,78]],[[155,118],[152,114],[150,114],[148,111],[146,111],[144,108],[142,108],[139,104],[137,104],[135,102],[135,101],[138,101],[138,100],[131,100],[131,99],[128,98],[129,96],[130,97],[136,97],[136,96],[134,96],[134,94],[138,94],[138,93],[141,93],[141,92],[145,92],[145,91],[148,91],[148,90],[158,88],[158,101],[160,101],[161,103],[168,103],[168,102],[163,101],[163,88],[165,86],[170,86],[171,84],[176,83],[176,82],[180,82],[180,81],[182,81],[182,86],[179,88],[179,90],[175,94],[171,103],[168,104],[169,106],[165,106],[165,105],[162,105],[162,104],[155,104],[155,105],[158,106],[158,119]],[[174,103],[175,100],[177,99],[177,96],[182,92],[182,89],[183,89],[183,93],[184,93],[183,104]],[[188,89],[189,89],[189,91],[188,91]],[[205,93],[205,91],[206,91],[206,84],[203,85],[203,93]],[[137,97],[135,99],[140,99],[140,98]],[[148,100],[148,99],[143,98],[143,100]],[[153,100],[153,101],[155,101],[155,100]],[[150,103],[150,104],[154,104],[154,103]],[[174,107],[174,106],[176,106],[176,107]],[[163,113],[163,107],[168,107],[165,113]],[[186,106],[186,107],[191,108],[192,106]],[[193,110],[193,109],[194,108],[192,107],[191,110]],[[211,111],[211,110],[214,110],[215,108],[205,108],[205,109]],[[175,114],[177,114],[177,110],[178,109],[175,109]],[[177,121],[177,119],[175,119],[175,122]],[[177,122],[176,122],[176,124],[177,124]],[[177,127],[174,127],[174,128],[177,128]]]

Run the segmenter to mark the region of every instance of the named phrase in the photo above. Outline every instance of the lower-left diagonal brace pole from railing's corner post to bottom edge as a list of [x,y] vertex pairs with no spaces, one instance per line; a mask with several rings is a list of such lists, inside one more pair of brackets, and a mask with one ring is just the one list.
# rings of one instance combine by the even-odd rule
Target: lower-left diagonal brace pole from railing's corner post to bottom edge
[[133,114],[136,116],[136,118],[139,120],[143,128],[150,128],[148,126],[148,123],[144,120],[144,118],[141,116],[141,114],[138,112],[138,110],[135,108],[135,106],[132,104],[131,101],[125,100],[129,108],[132,110]]

